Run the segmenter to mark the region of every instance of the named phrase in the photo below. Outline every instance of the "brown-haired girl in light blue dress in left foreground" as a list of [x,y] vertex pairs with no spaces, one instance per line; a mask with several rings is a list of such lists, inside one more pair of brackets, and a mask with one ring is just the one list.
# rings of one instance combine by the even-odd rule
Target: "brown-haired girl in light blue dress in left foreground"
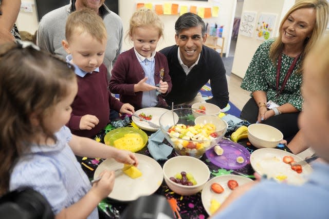
[[0,47],[0,195],[22,187],[40,192],[56,218],[98,218],[98,203],[112,191],[114,171],[91,185],[75,155],[136,156],[71,134],[64,126],[78,92],[74,66],[27,42]]

